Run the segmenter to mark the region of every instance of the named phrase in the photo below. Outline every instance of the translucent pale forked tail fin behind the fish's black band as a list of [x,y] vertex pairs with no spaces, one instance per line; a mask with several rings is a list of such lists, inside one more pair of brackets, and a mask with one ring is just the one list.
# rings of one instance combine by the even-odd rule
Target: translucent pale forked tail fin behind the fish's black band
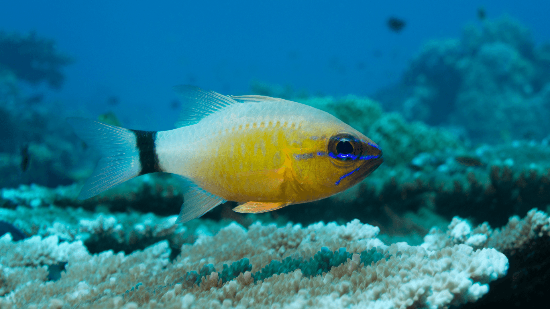
[[[154,132],[149,134],[151,141],[144,142],[144,135],[149,132],[124,129],[80,117],[67,118],[67,122],[73,126],[76,135],[86,144],[96,147],[102,156],[94,173],[80,191],[79,200],[98,195],[135,176],[155,171],[147,170],[142,173],[140,162],[140,158],[147,156],[149,152],[153,152],[154,156]],[[139,144],[147,144],[145,146],[151,146],[151,149],[142,151]]]

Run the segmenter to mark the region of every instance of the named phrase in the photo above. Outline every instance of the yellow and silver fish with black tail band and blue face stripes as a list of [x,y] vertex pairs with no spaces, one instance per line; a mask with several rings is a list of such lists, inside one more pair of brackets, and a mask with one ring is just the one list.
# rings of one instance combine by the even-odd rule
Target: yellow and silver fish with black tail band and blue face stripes
[[78,198],[135,176],[166,172],[188,187],[177,222],[226,201],[261,213],[321,200],[365,179],[382,162],[372,140],[333,115],[266,96],[224,96],[195,86],[173,87],[182,114],[168,131],[120,128],[68,118],[102,158]]

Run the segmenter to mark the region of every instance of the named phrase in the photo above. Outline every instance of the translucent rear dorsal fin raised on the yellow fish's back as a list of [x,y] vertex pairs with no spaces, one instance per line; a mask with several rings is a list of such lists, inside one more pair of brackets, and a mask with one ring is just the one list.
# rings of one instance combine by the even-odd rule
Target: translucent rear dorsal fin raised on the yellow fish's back
[[182,101],[182,112],[176,128],[196,124],[202,118],[230,106],[239,103],[228,96],[221,95],[211,90],[202,90],[199,87],[191,85],[178,85],[172,87],[175,94]]

